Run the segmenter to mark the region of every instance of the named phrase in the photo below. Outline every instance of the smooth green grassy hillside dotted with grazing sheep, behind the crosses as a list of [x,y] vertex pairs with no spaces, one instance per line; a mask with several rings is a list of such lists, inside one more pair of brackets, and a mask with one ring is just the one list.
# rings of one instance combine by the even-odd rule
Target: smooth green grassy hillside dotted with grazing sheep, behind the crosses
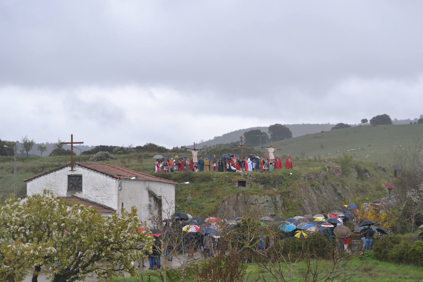
[[[281,149],[275,151],[275,156],[276,153],[280,156],[289,153],[293,160],[314,159],[319,156],[321,159],[333,159],[346,153],[359,160],[389,165],[392,162],[393,150],[400,150],[406,146],[415,147],[422,141],[423,124],[367,125],[277,141],[273,142],[273,147]],[[269,147],[269,145],[265,146]],[[266,152],[260,147],[255,147],[255,149]],[[352,149],[354,151],[351,151]]]

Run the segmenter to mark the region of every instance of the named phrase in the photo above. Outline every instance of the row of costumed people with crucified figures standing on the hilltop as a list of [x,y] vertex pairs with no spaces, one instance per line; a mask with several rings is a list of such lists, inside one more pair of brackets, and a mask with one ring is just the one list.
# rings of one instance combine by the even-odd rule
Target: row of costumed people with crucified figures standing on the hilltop
[[[263,147],[266,148],[266,147]],[[240,157],[237,154],[223,154],[217,159],[216,155],[201,156],[198,159],[198,152],[202,150],[191,151],[192,156],[175,156],[165,157],[157,155],[155,172],[177,172],[177,171],[217,171],[217,172],[244,172],[244,171],[260,171],[260,172],[271,172],[272,170],[282,169],[282,161],[279,155],[274,156],[275,150],[279,148],[266,148],[269,154],[264,153],[262,156],[248,155],[246,157]],[[159,157],[159,158],[156,158]],[[285,160],[285,168],[293,168],[292,160],[289,154]]]

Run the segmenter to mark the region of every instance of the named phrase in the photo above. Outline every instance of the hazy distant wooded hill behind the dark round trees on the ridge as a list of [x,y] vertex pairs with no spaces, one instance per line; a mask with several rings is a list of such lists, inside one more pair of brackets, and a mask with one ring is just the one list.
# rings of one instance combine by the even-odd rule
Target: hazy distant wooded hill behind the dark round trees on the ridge
[[[330,123],[302,123],[302,124],[284,124],[284,126],[288,127],[292,132],[292,137],[297,137],[305,134],[311,134],[316,133],[320,131],[327,131],[330,130],[335,124]],[[225,133],[220,136],[216,136],[213,139],[203,141],[196,143],[195,145],[198,146],[197,148],[201,148],[204,145],[211,146],[211,145],[217,145],[217,144],[228,144],[231,142],[237,142],[239,141],[239,137],[244,134],[245,131],[250,131],[254,129],[260,129],[261,131],[267,132],[268,126],[256,126],[256,127],[250,127],[246,129],[238,129],[235,131],[231,131],[228,133]],[[187,147],[190,147],[192,145],[187,145]]]

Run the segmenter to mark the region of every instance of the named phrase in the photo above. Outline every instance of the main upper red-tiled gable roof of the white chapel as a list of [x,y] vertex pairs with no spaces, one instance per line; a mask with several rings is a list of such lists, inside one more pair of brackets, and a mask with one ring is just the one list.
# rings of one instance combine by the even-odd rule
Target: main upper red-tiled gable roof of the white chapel
[[[135,180],[147,180],[147,181],[157,181],[157,182],[178,184],[175,181],[170,181],[167,179],[148,175],[142,172],[137,172],[135,170],[130,170],[129,168],[121,167],[120,165],[115,165],[115,164],[99,164],[99,163],[91,163],[91,162],[75,162],[74,164],[80,167],[85,167],[90,170],[94,170],[96,172],[100,172],[102,174],[105,174],[117,179],[129,179],[135,176],[137,178]],[[56,170],[60,170],[63,167],[69,167],[69,164],[62,167],[55,168],[54,170],[49,170],[49,171],[34,175],[33,177],[27,178],[24,181],[26,182],[26,181],[33,180],[34,178],[38,178],[42,175],[46,175]]]

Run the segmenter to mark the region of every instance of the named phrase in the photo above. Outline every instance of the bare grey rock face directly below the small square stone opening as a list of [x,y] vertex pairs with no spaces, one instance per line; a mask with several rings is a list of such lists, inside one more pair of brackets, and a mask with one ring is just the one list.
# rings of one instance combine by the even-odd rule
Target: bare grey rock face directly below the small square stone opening
[[242,217],[248,213],[269,216],[282,213],[282,209],[283,199],[280,194],[259,196],[237,193],[220,204],[217,216],[226,219]]

